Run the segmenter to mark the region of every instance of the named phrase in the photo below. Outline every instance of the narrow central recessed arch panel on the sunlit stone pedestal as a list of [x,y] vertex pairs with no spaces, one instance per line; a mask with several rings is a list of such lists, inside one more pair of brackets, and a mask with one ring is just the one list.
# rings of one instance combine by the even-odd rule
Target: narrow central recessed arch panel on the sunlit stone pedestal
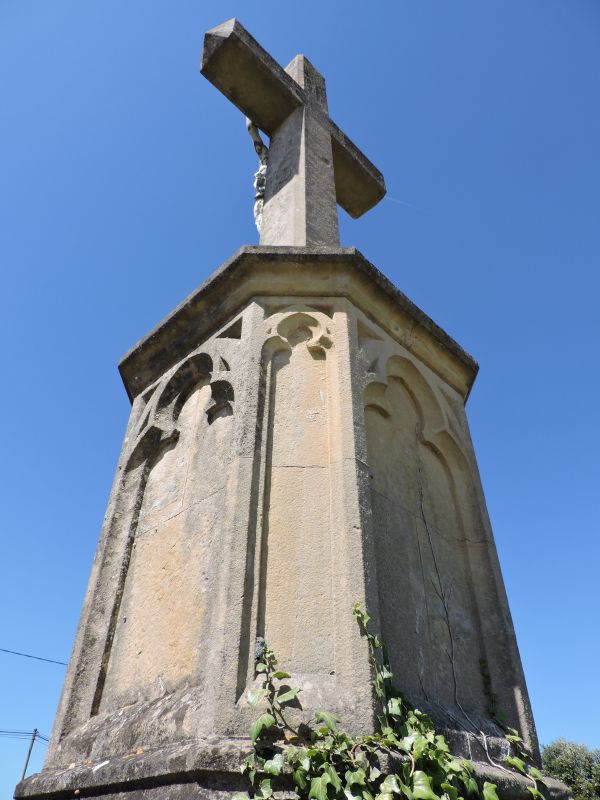
[[335,668],[328,634],[331,325],[330,317],[306,306],[265,320],[262,529],[250,640],[264,636],[298,676]]

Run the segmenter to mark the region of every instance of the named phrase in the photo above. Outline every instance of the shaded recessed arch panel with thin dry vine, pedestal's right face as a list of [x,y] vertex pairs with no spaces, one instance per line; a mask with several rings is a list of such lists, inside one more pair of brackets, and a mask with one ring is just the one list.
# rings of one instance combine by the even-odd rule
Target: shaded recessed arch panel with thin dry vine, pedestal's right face
[[399,688],[443,723],[485,729],[470,550],[484,539],[463,447],[409,358],[388,358],[363,401],[382,633]]

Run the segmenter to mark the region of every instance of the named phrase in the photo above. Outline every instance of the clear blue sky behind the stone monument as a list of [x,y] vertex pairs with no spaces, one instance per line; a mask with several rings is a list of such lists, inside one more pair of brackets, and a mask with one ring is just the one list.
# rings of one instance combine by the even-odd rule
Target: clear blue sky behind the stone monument
[[[597,0],[0,0],[0,647],[68,659],[129,410],[117,361],[256,242],[243,119],[198,74],[231,16],[325,74],[390,195],[340,213],[343,244],[480,362],[468,414],[538,733],[600,746]],[[0,653],[0,729],[49,734],[62,679]],[[25,751],[0,738],[3,796]]]

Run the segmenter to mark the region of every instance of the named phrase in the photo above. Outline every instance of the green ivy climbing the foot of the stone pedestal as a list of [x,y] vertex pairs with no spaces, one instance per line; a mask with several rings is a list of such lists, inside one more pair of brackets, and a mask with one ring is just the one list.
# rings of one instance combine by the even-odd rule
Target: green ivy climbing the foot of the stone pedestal
[[[392,684],[381,639],[369,631],[368,614],[359,604],[353,614],[369,645],[373,690],[381,708],[377,731],[350,736],[327,711],[315,711],[310,724],[294,727],[286,713],[298,705],[301,689],[286,683],[291,676],[278,668],[274,652],[263,643],[256,663],[262,680],[246,699],[264,710],[250,728],[254,750],[241,767],[248,791],[233,800],[269,800],[275,788],[284,788],[278,780],[284,774],[291,776],[299,800],[499,800],[496,784],[486,781],[480,790],[473,765],[452,755],[429,717],[402,698]],[[515,751],[507,764],[529,778],[534,798],[542,798],[538,783],[543,776],[518,731],[507,729],[506,738]]]

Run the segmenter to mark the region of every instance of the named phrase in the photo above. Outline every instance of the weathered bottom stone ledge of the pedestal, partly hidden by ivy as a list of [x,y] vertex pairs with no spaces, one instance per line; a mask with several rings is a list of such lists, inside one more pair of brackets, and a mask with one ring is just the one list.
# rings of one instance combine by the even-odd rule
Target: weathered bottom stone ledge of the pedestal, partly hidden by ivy
[[[97,764],[86,762],[48,769],[19,783],[15,798],[99,797],[103,800],[230,800],[246,791],[240,774],[244,756],[252,751],[248,739],[183,742],[148,752],[128,753]],[[501,800],[526,800],[529,782],[515,772],[473,762],[475,776],[495,783]],[[543,788],[543,787],[542,787]],[[543,790],[549,800],[567,800],[570,792],[548,779]],[[278,798],[294,797],[283,778]]]

